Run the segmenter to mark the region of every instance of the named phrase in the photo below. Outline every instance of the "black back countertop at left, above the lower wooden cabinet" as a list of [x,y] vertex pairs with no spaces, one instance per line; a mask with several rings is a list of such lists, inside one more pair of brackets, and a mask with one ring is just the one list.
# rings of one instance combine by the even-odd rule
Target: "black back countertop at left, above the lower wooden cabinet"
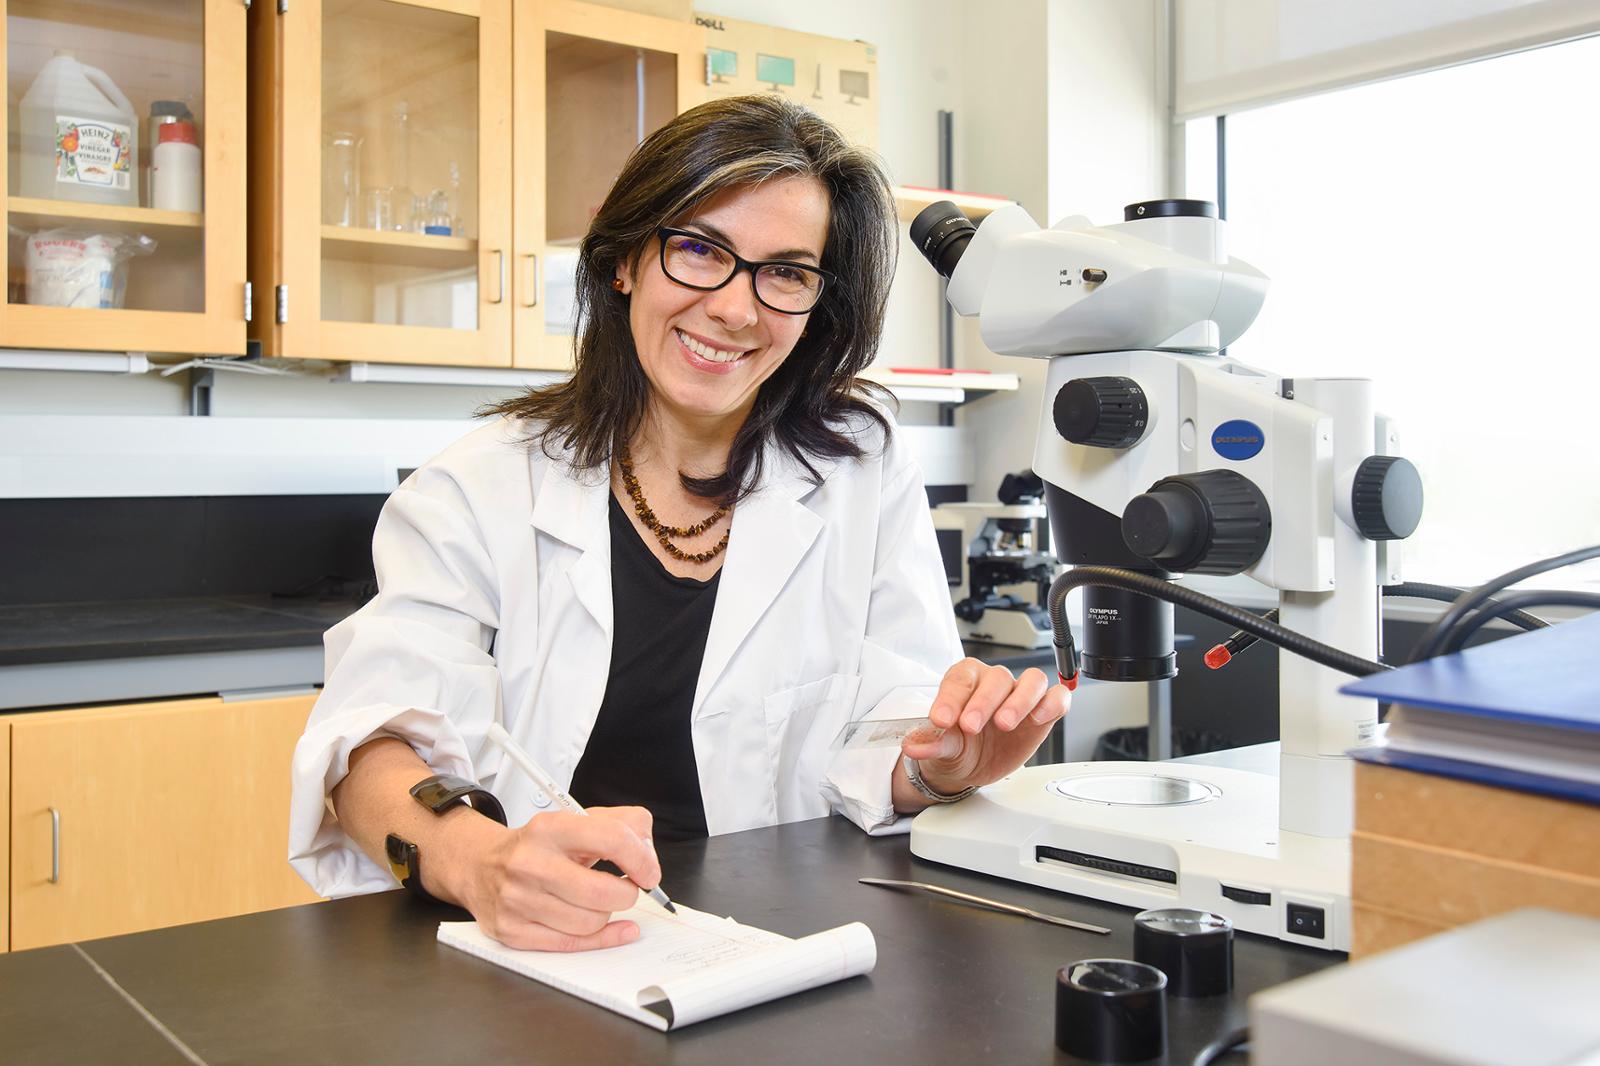
[[320,645],[358,607],[280,595],[0,605],[0,666]]

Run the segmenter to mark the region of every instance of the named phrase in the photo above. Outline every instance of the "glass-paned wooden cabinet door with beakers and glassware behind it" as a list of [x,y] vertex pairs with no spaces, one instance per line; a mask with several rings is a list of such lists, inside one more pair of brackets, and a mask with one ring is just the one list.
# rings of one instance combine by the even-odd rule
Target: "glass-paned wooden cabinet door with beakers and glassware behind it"
[[[278,98],[256,234],[267,351],[510,365],[509,0],[325,0],[256,14]],[[266,194],[266,195],[262,195]],[[258,277],[261,271],[256,272]]]

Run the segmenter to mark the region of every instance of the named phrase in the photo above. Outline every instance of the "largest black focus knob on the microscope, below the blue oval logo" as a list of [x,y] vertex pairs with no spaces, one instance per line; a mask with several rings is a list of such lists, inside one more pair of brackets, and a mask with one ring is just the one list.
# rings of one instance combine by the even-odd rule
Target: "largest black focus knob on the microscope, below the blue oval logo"
[[1122,538],[1163,570],[1240,573],[1267,551],[1272,509],[1243,474],[1178,474],[1128,501]]

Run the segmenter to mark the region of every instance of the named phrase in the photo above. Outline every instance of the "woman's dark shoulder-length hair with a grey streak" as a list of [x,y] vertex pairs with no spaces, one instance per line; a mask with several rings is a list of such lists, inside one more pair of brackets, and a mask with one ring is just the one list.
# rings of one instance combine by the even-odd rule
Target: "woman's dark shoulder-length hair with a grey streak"
[[[762,383],[728,453],[710,477],[678,474],[691,493],[734,503],[760,482],[762,453],[776,442],[821,482],[814,459],[859,458],[861,429],[890,423],[869,397],[888,392],[859,375],[877,352],[899,246],[894,200],[872,154],[813,110],[774,94],[731,96],[691,107],[650,134],[622,166],[584,235],[578,259],[578,338],[573,376],[530,389],[483,415],[526,419],[530,442],[571,464],[610,464],[645,418],[650,381],[629,328],[627,296],[611,287],[616,264],[635,271],[659,226],[723,189],[810,174],[829,197],[822,269],[837,280],[811,311],[805,336]],[[862,423],[861,419],[866,419]]]

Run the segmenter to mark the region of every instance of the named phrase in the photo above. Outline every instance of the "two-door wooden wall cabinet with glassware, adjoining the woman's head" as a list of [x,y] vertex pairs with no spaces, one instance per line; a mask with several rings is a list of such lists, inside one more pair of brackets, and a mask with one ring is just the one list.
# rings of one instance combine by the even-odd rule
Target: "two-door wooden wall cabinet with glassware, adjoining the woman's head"
[[251,19],[262,354],[570,365],[550,293],[563,306],[566,253],[627,152],[704,96],[699,30],[574,0],[306,0]]

